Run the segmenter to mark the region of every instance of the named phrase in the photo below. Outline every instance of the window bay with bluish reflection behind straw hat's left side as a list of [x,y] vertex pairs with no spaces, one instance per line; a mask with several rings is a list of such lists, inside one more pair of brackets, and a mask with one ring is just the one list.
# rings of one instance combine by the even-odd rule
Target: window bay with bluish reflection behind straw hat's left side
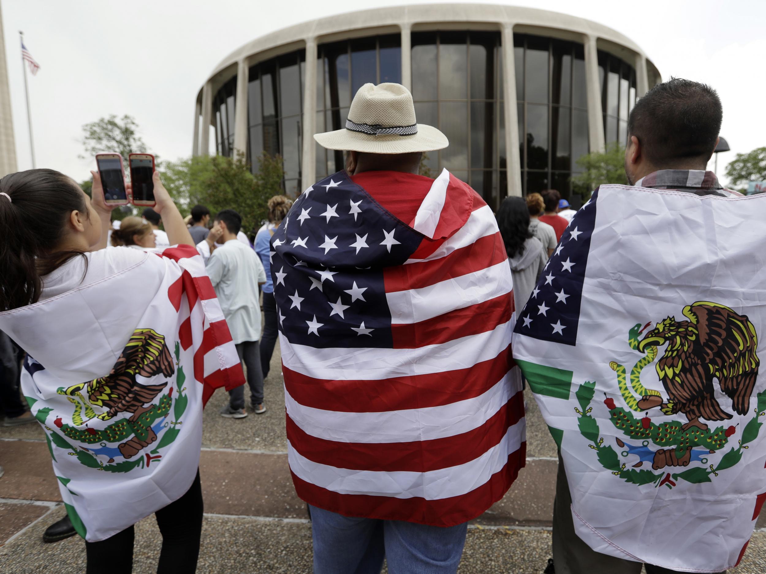
[[[401,83],[401,36],[322,44],[316,60],[316,132],[345,128],[349,107],[365,83]],[[343,152],[316,144],[316,179],[343,169]]]

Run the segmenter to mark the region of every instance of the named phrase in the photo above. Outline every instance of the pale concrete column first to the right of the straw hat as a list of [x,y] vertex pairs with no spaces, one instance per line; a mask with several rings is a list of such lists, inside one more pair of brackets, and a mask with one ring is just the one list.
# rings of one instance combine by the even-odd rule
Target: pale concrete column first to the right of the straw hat
[[506,118],[506,176],[508,195],[522,195],[522,161],[519,156],[519,106],[516,103],[516,59],[513,57],[513,25],[502,27],[502,100]]

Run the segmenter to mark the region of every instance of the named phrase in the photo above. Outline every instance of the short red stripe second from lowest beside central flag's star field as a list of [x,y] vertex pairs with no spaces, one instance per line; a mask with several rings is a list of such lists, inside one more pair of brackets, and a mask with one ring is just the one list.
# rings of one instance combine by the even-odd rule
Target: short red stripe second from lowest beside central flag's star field
[[447,279],[481,271],[508,260],[500,233],[480,237],[469,246],[455,249],[448,256],[388,267],[383,271],[385,291],[421,289]]

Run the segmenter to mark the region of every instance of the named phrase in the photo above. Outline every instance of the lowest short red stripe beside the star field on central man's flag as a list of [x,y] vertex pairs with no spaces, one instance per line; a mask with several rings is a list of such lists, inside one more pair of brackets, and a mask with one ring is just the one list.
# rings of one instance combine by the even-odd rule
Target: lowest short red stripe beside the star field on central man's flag
[[511,320],[512,295],[499,295],[483,303],[455,309],[419,323],[391,325],[394,349],[417,349],[492,331]]

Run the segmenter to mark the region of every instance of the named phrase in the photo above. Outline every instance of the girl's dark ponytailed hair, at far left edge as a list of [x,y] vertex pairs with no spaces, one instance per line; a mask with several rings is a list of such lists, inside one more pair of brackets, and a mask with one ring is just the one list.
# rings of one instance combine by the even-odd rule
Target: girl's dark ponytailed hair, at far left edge
[[[0,311],[38,302],[41,277],[79,251],[54,251],[73,211],[89,215],[74,181],[52,169],[17,171],[0,179]],[[87,259],[86,259],[87,269]]]

